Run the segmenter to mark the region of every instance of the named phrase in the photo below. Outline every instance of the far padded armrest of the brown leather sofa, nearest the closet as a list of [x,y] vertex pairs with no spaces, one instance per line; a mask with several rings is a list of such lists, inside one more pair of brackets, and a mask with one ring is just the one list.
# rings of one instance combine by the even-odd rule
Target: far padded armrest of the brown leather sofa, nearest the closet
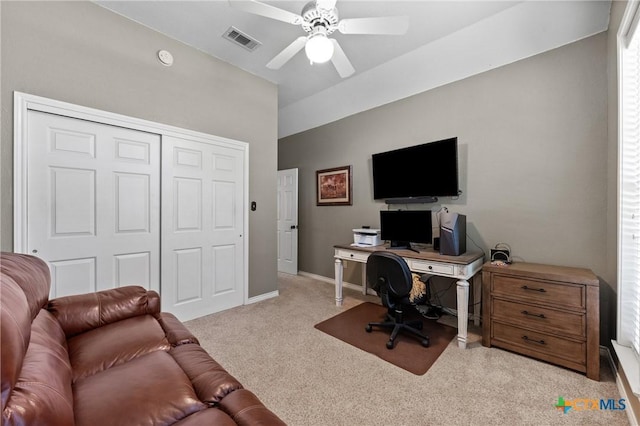
[[160,296],[140,286],[59,297],[47,309],[56,317],[67,338],[138,315],[160,313]]

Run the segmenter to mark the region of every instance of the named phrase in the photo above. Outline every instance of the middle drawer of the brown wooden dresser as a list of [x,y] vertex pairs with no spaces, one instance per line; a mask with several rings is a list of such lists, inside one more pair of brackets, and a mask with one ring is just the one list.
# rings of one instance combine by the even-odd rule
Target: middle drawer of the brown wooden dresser
[[559,311],[498,298],[492,300],[491,309],[492,318],[515,325],[577,338],[585,336],[586,316],[582,313]]

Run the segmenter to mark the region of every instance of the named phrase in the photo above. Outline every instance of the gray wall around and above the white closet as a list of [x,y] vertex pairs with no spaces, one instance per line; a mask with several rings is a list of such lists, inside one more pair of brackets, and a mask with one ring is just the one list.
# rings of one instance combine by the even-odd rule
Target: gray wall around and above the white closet
[[[90,2],[0,2],[2,250],[13,249],[13,91],[248,142],[249,296],[277,289],[277,87]],[[172,67],[156,59],[160,49]]]

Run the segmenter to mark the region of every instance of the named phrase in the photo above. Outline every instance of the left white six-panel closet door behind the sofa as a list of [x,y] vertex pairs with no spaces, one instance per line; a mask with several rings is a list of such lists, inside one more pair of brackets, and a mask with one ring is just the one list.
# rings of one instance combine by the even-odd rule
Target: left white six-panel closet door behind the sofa
[[160,136],[29,111],[27,247],[51,297],[159,290]]

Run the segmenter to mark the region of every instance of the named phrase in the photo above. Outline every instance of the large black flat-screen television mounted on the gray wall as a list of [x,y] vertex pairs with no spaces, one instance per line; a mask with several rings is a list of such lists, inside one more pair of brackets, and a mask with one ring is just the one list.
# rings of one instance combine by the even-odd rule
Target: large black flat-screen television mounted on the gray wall
[[455,197],[460,193],[458,138],[373,154],[371,163],[376,200]]

